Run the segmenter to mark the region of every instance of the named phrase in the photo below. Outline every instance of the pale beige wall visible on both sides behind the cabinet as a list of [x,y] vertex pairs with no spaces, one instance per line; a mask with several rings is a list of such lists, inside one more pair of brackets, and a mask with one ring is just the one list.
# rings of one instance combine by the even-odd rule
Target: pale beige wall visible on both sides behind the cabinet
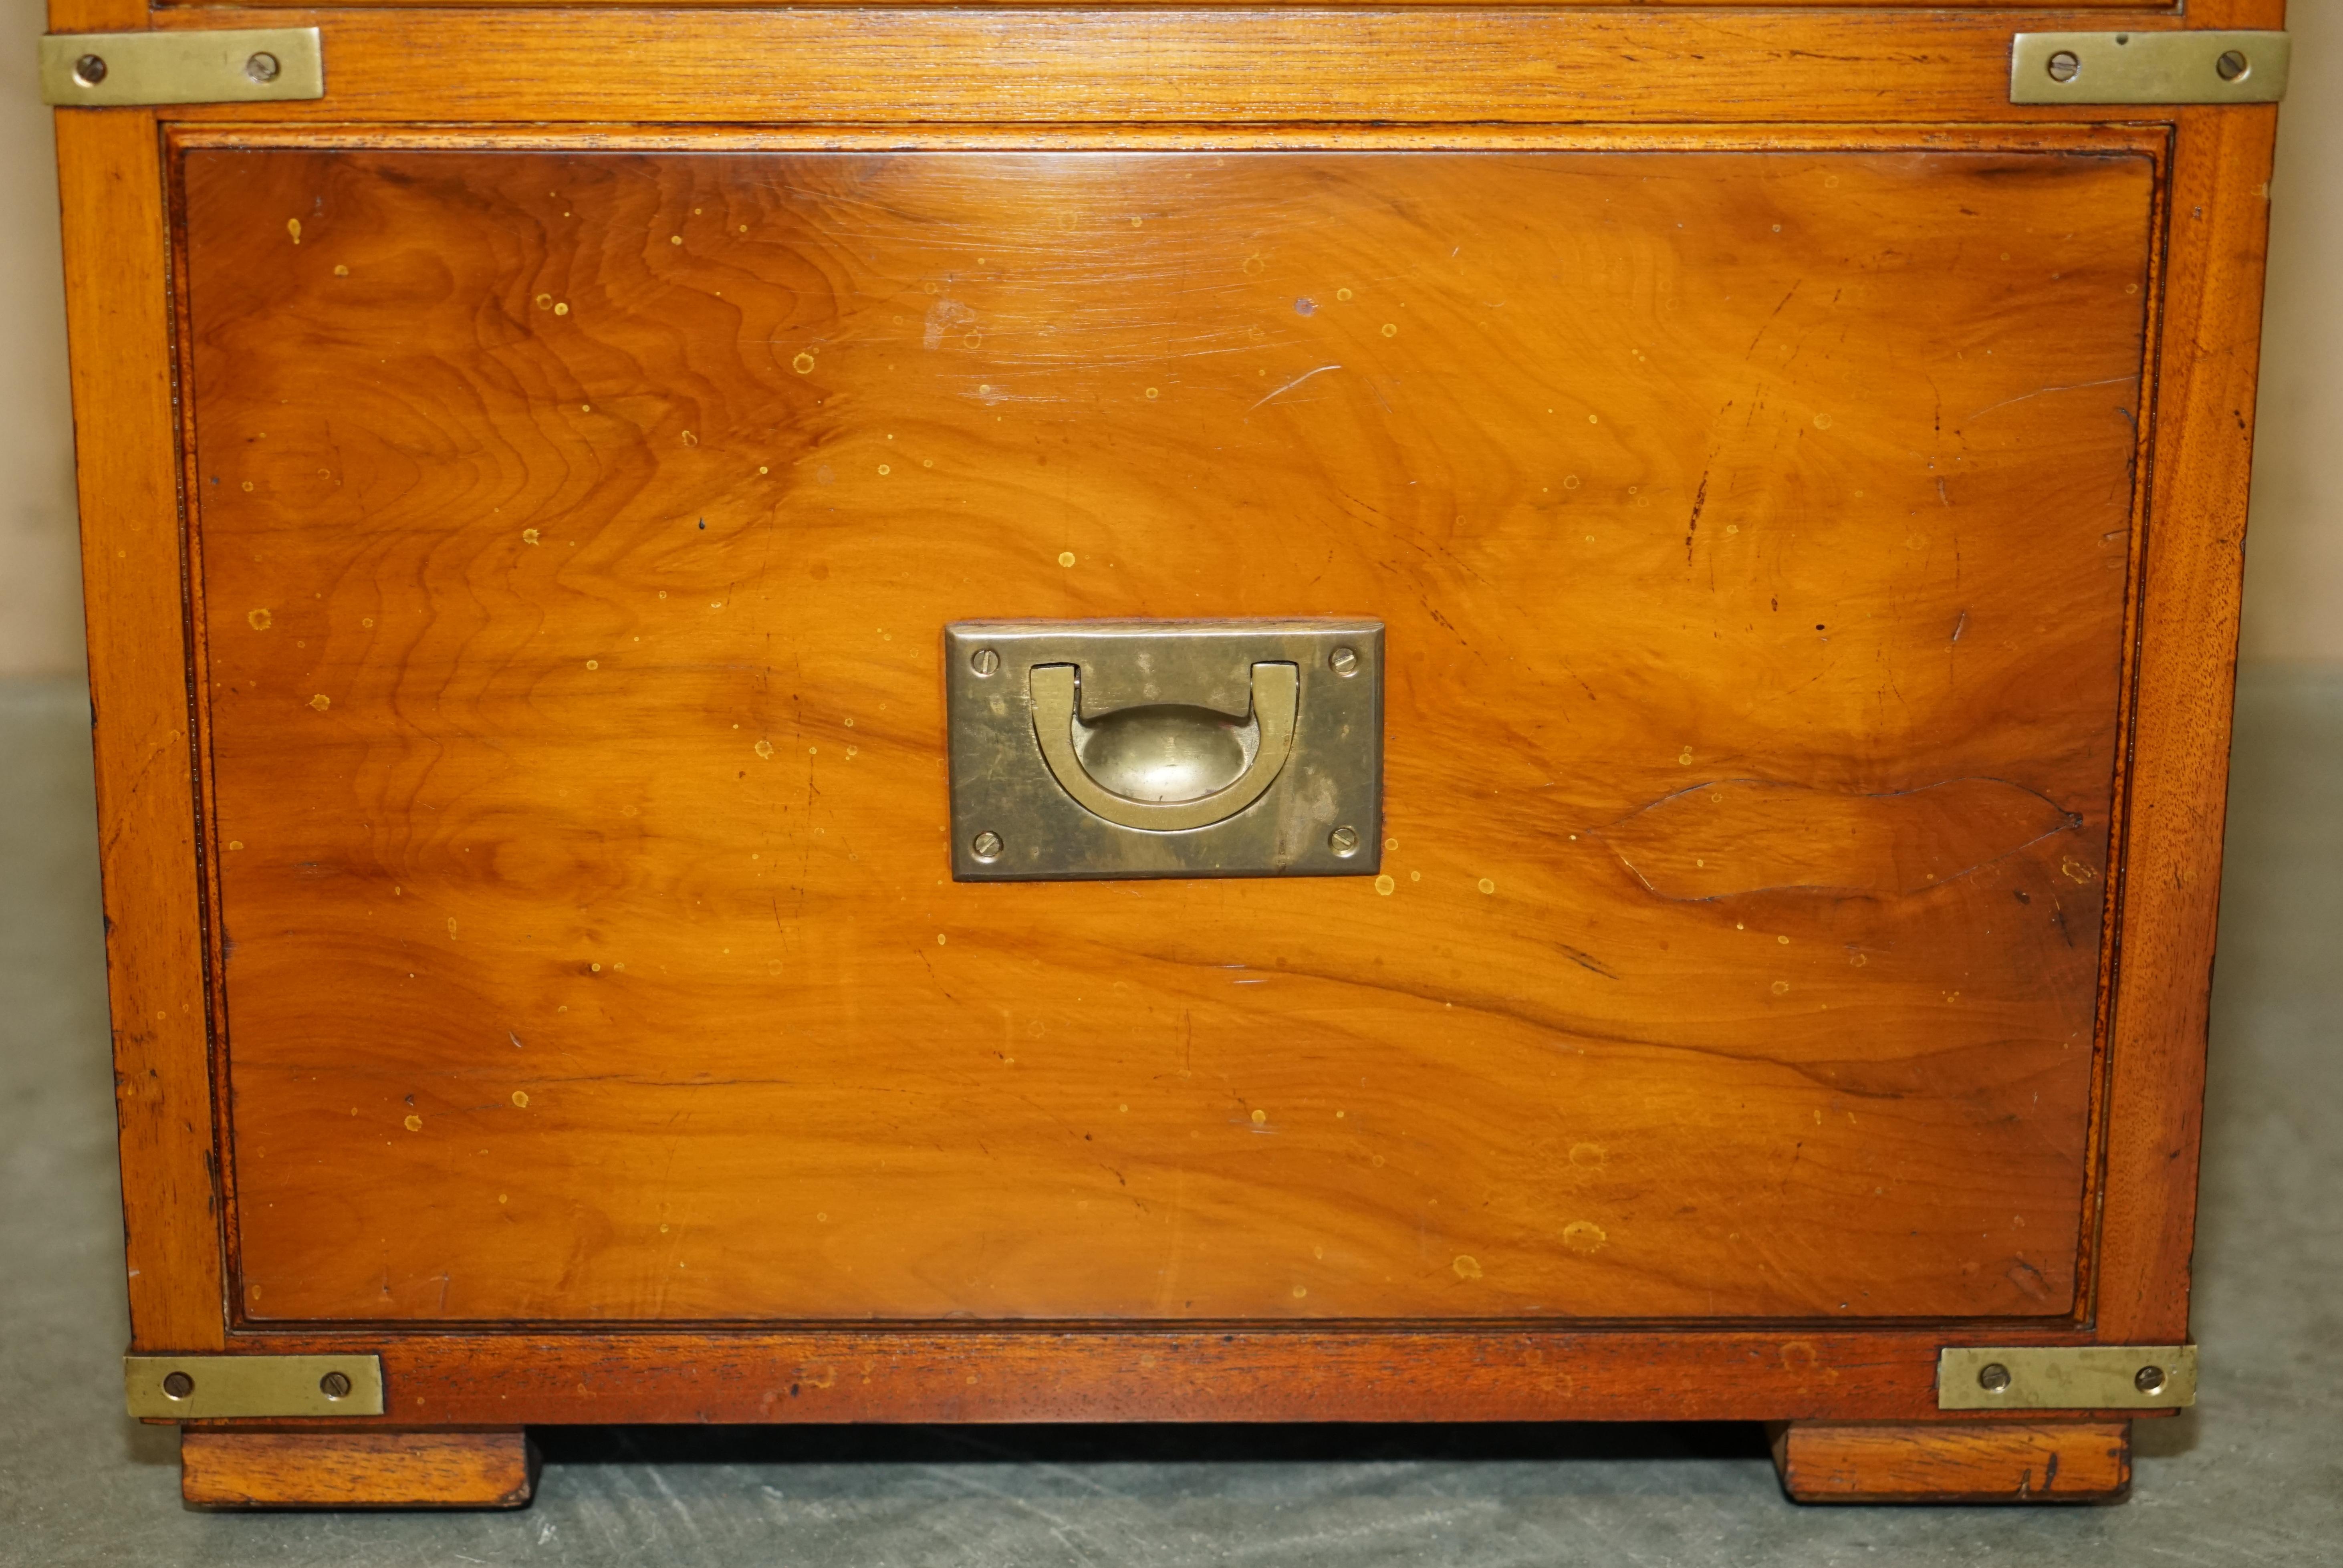
[[[0,675],[82,668],[40,0],[0,0]],[[2296,0],[2263,321],[2245,656],[2343,663],[2343,0]]]

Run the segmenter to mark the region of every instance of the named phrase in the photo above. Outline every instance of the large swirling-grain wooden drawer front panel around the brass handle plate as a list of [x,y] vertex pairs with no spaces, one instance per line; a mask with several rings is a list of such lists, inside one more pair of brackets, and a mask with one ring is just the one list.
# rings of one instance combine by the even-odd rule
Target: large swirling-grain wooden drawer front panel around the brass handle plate
[[[2153,164],[180,162],[241,1313],[2055,1315]],[[956,884],[942,626],[1385,623]]]

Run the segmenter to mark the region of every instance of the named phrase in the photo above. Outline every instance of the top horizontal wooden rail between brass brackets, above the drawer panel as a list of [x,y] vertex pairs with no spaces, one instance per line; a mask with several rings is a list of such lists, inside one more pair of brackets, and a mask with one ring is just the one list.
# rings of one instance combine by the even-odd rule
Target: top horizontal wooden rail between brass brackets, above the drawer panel
[[[2226,26],[2268,16],[2242,0]],[[2216,26],[2207,7],[2191,23]],[[216,26],[211,7],[155,26]],[[2076,12],[1415,7],[288,9],[323,30],[314,103],[185,122],[1603,124],[2092,122],[2013,105],[2010,33]],[[2113,14],[2099,14],[2113,21]],[[2130,21],[2130,19],[2127,19]],[[2137,26],[2172,28],[2163,9]],[[757,61],[743,70],[740,61]],[[2125,113],[2127,122],[2167,113]]]

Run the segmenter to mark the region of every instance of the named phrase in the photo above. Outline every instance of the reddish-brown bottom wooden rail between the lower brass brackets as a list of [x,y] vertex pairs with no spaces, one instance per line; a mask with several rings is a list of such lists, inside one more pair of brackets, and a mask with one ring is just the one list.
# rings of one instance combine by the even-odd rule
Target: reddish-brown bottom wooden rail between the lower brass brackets
[[[1945,1343],[2088,1343],[2031,1324],[841,1324],[239,1338],[293,1355],[363,1343],[387,1420],[1961,1420],[1935,1409]],[[2069,1411],[2120,1420],[2125,1413]],[[1977,1420],[1996,1420],[1977,1413]],[[269,1423],[258,1423],[269,1425]]]

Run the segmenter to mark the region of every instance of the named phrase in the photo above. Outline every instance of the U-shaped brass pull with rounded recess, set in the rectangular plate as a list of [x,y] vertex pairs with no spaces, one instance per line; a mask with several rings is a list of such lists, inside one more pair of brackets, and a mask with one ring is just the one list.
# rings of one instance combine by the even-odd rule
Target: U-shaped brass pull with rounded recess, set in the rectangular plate
[[[1050,773],[1085,811],[1106,818],[1118,827],[1141,827],[1148,832],[1181,832],[1188,827],[1211,827],[1237,816],[1268,795],[1293,755],[1293,715],[1300,705],[1300,670],[1291,663],[1254,666],[1254,729],[1256,743],[1249,759],[1242,757],[1242,741],[1235,727],[1200,708],[1162,705],[1127,708],[1106,715],[1097,724],[1082,724],[1078,713],[1078,670],[1071,663],[1033,666],[1029,677],[1033,696],[1033,736]],[[1214,780],[1230,771],[1230,762],[1242,762],[1235,778],[1209,785],[1202,795],[1179,799],[1141,799],[1139,795],[1111,790],[1092,773],[1075,741],[1082,734],[1089,750],[1101,750],[1120,766],[1115,783],[1146,788],[1160,780],[1162,788],[1179,790],[1183,783]],[[1104,738],[1101,738],[1104,734]],[[1237,748],[1232,752],[1232,748]]]

